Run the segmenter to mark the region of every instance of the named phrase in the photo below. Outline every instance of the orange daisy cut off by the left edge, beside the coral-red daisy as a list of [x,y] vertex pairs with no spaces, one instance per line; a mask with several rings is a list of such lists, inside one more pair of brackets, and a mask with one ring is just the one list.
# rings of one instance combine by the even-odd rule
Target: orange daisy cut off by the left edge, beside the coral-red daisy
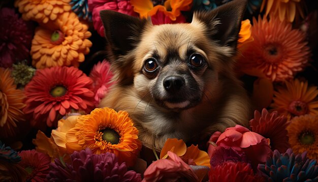
[[10,75],[9,69],[0,68],[0,138],[13,136],[17,123],[24,121],[25,96]]

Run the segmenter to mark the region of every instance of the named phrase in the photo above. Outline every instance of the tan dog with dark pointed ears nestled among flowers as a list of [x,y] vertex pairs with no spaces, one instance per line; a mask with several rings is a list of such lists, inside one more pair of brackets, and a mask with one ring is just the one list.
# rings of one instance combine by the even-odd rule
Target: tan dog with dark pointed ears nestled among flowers
[[101,11],[116,84],[100,107],[127,111],[156,149],[168,138],[198,142],[247,126],[248,97],[233,71],[245,7],[235,0],[194,13],[191,23],[162,25]]

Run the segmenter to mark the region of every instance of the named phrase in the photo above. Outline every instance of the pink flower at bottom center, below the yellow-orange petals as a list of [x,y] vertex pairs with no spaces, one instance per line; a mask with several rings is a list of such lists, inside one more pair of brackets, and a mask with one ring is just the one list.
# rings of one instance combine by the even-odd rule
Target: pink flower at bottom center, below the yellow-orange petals
[[199,181],[193,169],[180,157],[168,151],[170,159],[160,159],[146,169],[142,181]]

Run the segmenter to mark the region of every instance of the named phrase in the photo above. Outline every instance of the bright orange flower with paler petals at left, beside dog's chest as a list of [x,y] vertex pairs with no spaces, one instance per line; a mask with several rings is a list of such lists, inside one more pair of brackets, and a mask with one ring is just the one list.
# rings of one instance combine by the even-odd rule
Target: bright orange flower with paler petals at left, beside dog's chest
[[[138,130],[125,111],[97,108],[90,114],[60,120],[52,131],[55,143],[67,153],[90,148],[94,154],[114,153],[120,162],[132,166],[141,149]],[[76,118],[78,117],[78,118]]]

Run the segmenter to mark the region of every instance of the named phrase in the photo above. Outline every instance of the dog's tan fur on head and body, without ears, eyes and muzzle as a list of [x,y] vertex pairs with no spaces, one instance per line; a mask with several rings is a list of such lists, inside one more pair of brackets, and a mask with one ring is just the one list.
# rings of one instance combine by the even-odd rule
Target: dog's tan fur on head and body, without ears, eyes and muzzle
[[[202,140],[215,131],[224,131],[236,124],[248,125],[249,102],[245,90],[233,72],[235,54],[230,47],[220,46],[204,34],[206,25],[194,18],[190,24],[147,24],[136,48],[122,59],[131,61],[129,67],[133,82],[115,84],[102,100],[100,107],[125,110],[134,120],[139,137],[144,145],[161,148],[167,138],[180,138],[185,141]],[[181,58],[186,58],[191,46],[202,54],[209,67],[202,73],[192,76],[202,92],[201,102],[186,110],[173,111],[158,106],[151,97],[156,78],[148,78],[141,71],[145,59],[151,52],[165,60],[168,50],[177,50]],[[172,65],[188,69],[186,64]],[[164,72],[163,68],[162,71]],[[122,77],[122,70],[113,67],[115,79]]]

